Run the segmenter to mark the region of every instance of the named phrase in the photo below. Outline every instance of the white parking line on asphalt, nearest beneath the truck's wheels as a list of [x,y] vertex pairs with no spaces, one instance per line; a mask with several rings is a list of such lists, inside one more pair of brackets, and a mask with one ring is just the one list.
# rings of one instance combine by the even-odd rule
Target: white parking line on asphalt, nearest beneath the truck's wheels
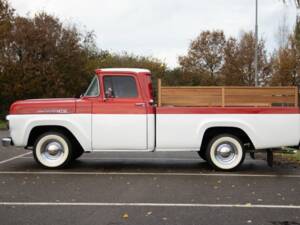
[[55,171],[0,171],[0,175],[104,175],[104,176],[199,176],[199,177],[265,177],[300,178],[289,174],[241,174],[241,173],[147,173],[147,172],[55,172]]

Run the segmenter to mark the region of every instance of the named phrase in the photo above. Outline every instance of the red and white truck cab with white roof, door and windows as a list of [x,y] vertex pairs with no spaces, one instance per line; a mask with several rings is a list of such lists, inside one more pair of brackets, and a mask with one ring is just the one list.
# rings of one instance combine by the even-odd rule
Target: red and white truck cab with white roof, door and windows
[[[149,70],[96,70],[90,87],[76,105],[91,115],[91,149],[94,151],[154,150]],[[90,112],[86,112],[87,108]]]

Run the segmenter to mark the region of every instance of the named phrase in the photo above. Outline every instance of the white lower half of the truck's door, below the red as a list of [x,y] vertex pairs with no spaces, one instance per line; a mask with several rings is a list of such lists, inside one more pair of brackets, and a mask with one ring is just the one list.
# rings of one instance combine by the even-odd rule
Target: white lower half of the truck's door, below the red
[[93,114],[92,147],[98,150],[146,150],[147,115]]

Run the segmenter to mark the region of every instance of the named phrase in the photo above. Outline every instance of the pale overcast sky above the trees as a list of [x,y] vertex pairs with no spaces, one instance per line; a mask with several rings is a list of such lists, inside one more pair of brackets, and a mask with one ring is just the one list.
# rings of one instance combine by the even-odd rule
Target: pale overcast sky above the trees
[[[17,14],[45,11],[65,24],[93,30],[98,47],[159,58],[170,68],[204,30],[224,30],[238,38],[254,30],[255,0],[10,0]],[[259,35],[271,53],[278,46],[278,27],[290,28],[296,9],[280,0],[259,0]]]

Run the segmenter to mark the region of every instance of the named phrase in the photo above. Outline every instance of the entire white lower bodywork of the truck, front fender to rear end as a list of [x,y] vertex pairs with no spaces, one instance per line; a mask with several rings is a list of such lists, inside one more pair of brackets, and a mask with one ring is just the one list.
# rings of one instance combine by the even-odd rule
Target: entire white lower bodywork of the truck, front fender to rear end
[[[8,119],[17,147],[27,145],[32,128],[53,125],[69,129],[86,151],[154,149],[154,115],[93,117],[93,123],[88,114],[10,115]],[[299,114],[158,114],[156,126],[157,151],[198,151],[205,130],[219,126],[244,130],[256,149],[295,146],[300,141]]]

